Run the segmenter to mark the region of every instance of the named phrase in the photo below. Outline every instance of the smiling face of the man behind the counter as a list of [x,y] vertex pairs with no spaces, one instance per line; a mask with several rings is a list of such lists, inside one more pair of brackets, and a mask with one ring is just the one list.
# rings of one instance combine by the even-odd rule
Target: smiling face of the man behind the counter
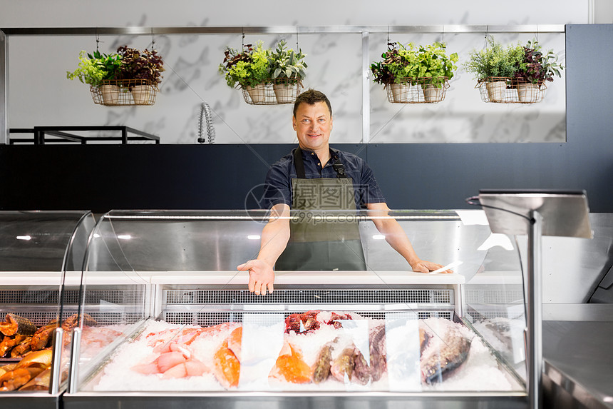
[[301,103],[292,116],[292,125],[301,148],[317,151],[328,146],[332,117],[325,102]]

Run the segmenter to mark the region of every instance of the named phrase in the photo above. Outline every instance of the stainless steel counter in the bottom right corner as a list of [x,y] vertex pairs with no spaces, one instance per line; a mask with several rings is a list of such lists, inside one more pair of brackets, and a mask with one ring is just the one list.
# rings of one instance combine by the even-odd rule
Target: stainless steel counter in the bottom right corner
[[613,304],[543,309],[545,408],[613,408]]

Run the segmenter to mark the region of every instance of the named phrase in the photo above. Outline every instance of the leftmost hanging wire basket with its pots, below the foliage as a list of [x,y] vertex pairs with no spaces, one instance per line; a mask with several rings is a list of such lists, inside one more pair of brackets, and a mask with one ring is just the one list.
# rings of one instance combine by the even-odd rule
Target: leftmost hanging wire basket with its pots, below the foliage
[[94,103],[105,106],[153,105],[158,86],[146,79],[109,79],[91,86]]

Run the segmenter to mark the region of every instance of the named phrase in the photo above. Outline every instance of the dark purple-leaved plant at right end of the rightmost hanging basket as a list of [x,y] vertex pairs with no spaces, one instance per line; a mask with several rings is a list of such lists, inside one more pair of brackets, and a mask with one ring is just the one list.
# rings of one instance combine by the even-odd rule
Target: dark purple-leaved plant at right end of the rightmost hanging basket
[[536,40],[528,41],[523,49],[524,58],[515,72],[515,78],[519,81],[540,85],[545,81],[553,81],[555,75],[562,77],[560,70],[564,66],[557,63],[558,56],[553,50],[544,54]]

